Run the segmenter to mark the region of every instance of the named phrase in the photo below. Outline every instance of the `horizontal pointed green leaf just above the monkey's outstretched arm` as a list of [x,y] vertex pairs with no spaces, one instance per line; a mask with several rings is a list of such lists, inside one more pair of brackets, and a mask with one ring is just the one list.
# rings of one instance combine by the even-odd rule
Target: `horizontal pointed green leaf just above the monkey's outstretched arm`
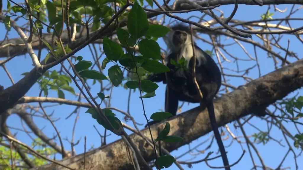
[[170,69],[164,64],[156,61],[156,60],[148,60],[145,61],[141,67],[143,67],[146,71],[151,73],[165,73],[170,71]]

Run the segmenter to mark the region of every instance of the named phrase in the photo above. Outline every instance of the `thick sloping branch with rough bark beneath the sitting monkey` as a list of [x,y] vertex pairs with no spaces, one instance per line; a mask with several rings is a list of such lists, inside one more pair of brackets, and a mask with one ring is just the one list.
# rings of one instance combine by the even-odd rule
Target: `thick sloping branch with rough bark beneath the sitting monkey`
[[[218,125],[223,126],[248,114],[254,113],[258,108],[264,108],[277,100],[283,99],[289,93],[301,88],[302,85],[303,60],[299,60],[260,77],[214,101],[215,116]],[[181,136],[184,139],[184,143],[178,142],[169,144],[162,142],[162,147],[165,147],[169,152],[204,136],[212,130],[207,110],[201,111],[199,107],[179,114],[178,116],[169,119],[168,122],[171,124],[169,135]],[[157,137],[158,128],[162,129],[163,127],[164,123],[151,127],[154,138]],[[143,129],[141,133],[150,137],[148,129]],[[140,136],[132,134],[130,137],[137,145],[146,161],[154,159],[153,149],[147,145]],[[71,168],[83,169],[84,154],[64,159],[61,162]],[[126,145],[122,139],[102,146],[102,148],[87,152],[85,162],[86,168],[90,170],[134,169],[126,152]],[[55,164],[48,164],[38,167],[37,169],[63,170],[65,168]]]

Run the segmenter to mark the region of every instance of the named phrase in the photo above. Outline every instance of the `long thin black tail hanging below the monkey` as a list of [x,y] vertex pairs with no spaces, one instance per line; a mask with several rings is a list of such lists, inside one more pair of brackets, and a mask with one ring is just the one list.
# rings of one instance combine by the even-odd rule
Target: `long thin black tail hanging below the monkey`
[[216,121],[216,117],[215,117],[214,103],[211,99],[209,99],[208,101],[206,99],[204,99],[204,102],[205,102],[207,110],[208,110],[208,116],[209,116],[209,119],[210,119],[211,128],[214,131],[215,138],[217,140],[217,143],[218,143],[218,146],[219,146],[219,149],[220,149],[223,164],[225,166],[225,170],[230,170],[230,166],[229,166],[229,163],[228,163],[225,148],[224,148],[224,145],[223,145],[223,142],[222,142],[222,139],[221,139],[220,132],[218,130],[218,125],[217,125],[217,121]]

